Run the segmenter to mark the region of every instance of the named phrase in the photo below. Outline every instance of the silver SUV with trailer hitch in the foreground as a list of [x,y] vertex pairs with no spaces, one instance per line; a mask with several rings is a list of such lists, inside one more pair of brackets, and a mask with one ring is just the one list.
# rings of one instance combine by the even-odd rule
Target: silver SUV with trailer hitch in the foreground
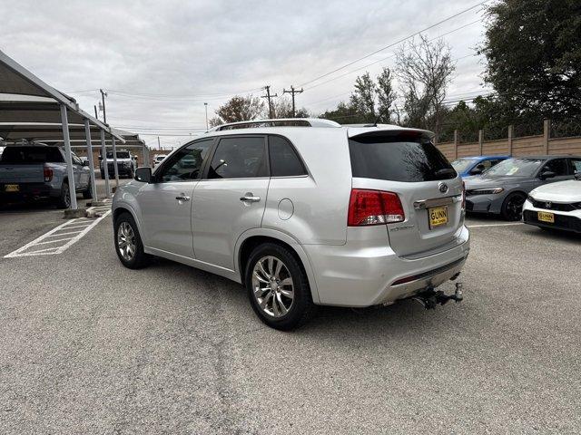
[[222,125],[116,191],[116,252],[130,268],[162,256],[241,283],[283,330],[318,304],[446,302],[434,289],[464,266],[468,229],[462,180],[431,137],[312,119]]

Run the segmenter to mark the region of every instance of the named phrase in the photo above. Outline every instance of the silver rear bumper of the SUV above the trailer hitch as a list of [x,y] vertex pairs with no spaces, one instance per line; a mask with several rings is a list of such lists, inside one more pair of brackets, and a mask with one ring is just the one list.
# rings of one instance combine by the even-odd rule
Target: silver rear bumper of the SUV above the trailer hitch
[[[385,228],[378,230],[385,237]],[[458,230],[456,247],[414,259],[397,256],[390,247],[369,247],[369,240],[303,247],[317,280],[320,304],[341,306],[384,304],[427,286],[437,287],[460,272],[470,249],[466,227]]]

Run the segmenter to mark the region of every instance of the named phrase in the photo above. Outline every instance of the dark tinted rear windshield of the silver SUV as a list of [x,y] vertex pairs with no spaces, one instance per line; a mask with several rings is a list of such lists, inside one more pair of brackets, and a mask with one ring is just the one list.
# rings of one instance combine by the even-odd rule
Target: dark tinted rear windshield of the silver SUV
[[358,136],[350,139],[349,150],[353,177],[406,182],[457,177],[444,155],[425,138]]

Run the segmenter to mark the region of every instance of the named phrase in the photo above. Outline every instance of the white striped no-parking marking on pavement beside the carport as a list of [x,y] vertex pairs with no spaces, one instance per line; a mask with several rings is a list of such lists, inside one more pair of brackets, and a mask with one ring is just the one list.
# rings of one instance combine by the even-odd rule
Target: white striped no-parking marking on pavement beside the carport
[[[94,211],[94,208],[88,208],[89,211]],[[104,210],[103,210],[104,211]],[[17,256],[51,256],[54,254],[62,254],[69,247],[72,247],[81,237],[84,237],[91,229],[93,229],[99,222],[106,218],[111,213],[111,208],[107,207],[99,218],[74,218],[69,219],[64,224],[59,225],[45,233],[41,237],[35,238],[32,242],[27,243],[24,247],[19,247],[10,254],[5,255],[5,258],[15,258]],[[82,228],[79,230],[70,231],[73,228]],[[60,232],[65,231],[65,232]],[[71,237],[64,237],[71,236]],[[49,237],[64,237],[56,240],[49,239]],[[44,245],[60,243],[56,247],[44,247]],[[35,247],[44,247],[43,249],[34,249]],[[31,250],[33,249],[33,250]]]

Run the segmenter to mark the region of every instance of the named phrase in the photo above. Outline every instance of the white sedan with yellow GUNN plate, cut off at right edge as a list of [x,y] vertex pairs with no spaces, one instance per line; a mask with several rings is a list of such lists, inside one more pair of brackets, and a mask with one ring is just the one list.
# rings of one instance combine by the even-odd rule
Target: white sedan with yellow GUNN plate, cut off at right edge
[[523,221],[581,233],[581,174],[531,190],[523,207]]

